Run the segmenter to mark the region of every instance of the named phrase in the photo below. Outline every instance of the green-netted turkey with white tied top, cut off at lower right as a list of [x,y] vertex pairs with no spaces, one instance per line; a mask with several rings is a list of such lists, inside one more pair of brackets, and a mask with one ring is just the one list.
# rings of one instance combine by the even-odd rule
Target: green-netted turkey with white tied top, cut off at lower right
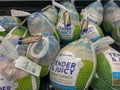
[[120,52],[109,46],[113,42],[112,38],[102,38],[95,42],[97,68],[91,84],[94,90],[120,89]]

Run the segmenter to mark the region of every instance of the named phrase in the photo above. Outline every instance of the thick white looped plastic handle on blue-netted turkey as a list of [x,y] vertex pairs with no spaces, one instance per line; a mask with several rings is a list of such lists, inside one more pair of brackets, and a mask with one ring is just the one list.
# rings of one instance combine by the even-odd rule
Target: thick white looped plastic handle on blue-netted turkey
[[38,54],[36,54],[34,52],[34,50],[35,50],[36,46],[39,44],[39,42],[33,43],[32,46],[30,47],[29,52],[30,52],[30,55],[33,58],[40,59],[40,58],[42,58],[42,57],[44,57],[46,55],[46,53],[47,53],[47,51],[49,49],[49,40],[48,40],[48,38],[43,37],[43,40],[41,42],[42,42],[43,48]]

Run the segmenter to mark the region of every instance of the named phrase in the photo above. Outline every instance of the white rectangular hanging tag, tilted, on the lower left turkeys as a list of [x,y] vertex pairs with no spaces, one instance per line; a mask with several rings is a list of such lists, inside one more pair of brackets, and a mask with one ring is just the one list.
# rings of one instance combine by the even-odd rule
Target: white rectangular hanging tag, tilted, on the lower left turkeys
[[15,61],[16,61],[15,67],[39,77],[41,72],[41,67],[39,65],[30,61],[24,56],[19,56],[18,59],[16,59]]

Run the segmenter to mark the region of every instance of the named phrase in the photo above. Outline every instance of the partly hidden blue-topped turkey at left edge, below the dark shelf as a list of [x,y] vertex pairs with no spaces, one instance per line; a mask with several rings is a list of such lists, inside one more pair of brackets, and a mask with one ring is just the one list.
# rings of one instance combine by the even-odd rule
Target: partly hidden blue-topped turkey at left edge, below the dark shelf
[[7,32],[13,27],[19,25],[21,20],[13,16],[0,16],[0,26],[2,26]]

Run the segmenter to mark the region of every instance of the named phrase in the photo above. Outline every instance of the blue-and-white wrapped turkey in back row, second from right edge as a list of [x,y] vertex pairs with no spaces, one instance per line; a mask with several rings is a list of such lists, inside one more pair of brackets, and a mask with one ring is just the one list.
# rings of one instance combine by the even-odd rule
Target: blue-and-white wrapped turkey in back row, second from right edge
[[101,0],[96,0],[83,9],[80,13],[80,20],[84,17],[87,17],[91,24],[100,25],[103,21],[103,5]]

